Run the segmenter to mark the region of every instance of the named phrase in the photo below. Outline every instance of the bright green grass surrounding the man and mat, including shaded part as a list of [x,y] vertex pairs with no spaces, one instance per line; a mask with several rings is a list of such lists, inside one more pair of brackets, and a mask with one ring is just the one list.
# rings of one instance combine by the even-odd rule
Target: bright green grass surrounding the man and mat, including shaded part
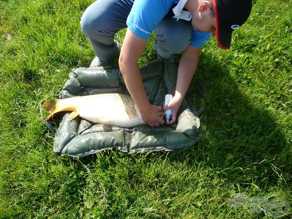
[[[268,218],[228,207],[239,192],[292,204],[290,1],[254,0],[230,50],[215,39],[203,47],[195,77],[207,100],[197,144],[58,157],[38,104],[94,58],[79,25],[89,4],[0,1],[0,218]],[[124,34],[116,35],[121,44]],[[155,58],[152,36],[139,65]]]

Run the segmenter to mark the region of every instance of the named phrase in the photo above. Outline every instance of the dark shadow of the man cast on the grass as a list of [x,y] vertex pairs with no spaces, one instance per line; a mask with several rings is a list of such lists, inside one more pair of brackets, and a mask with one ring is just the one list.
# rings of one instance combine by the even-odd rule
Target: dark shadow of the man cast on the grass
[[[212,60],[208,54],[201,54],[200,60]],[[213,61],[213,60],[212,60]],[[245,96],[220,63],[212,67],[198,66],[195,77],[203,80],[207,88],[206,109],[201,114],[201,138],[189,148],[165,153],[147,154],[153,157],[168,157],[169,161],[189,165],[203,162],[216,175],[239,183],[257,187],[277,185],[291,173],[291,157],[288,143],[282,129],[269,110],[259,109]],[[191,89],[196,92],[196,82]],[[194,101],[199,100],[197,97]],[[194,102],[195,107],[200,107]],[[111,152],[102,152],[111,157]],[[124,154],[121,157],[145,158],[145,154]],[[94,162],[96,155],[81,158],[85,164]],[[105,167],[105,166],[104,166]],[[245,187],[245,186],[243,186]]]

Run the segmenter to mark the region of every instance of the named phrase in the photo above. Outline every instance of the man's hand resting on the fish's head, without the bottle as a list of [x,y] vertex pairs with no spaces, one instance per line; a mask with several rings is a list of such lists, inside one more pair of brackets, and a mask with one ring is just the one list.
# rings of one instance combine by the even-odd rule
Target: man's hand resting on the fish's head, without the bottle
[[150,125],[151,127],[158,127],[159,125],[164,124],[164,119],[159,117],[158,112],[162,110],[162,107],[150,105],[148,108],[139,110],[142,120]]

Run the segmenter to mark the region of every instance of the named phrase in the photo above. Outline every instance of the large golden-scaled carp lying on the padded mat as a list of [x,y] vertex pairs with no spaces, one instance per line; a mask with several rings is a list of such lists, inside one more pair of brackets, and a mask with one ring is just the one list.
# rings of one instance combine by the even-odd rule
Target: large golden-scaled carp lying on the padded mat
[[[46,101],[42,104],[42,109],[50,112],[46,121],[50,121],[58,112],[72,111],[69,114],[70,121],[80,116],[97,124],[121,128],[145,124],[133,98],[121,93],[102,93]],[[162,118],[164,111],[159,111],[159,116]]]

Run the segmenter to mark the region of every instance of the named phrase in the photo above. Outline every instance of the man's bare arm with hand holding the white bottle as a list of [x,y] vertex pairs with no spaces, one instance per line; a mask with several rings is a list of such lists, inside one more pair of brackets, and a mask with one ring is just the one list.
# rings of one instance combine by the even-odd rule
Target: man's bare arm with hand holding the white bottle
[[180,105],[183,102],[183,98],[189,89],[190,83],[197,69],[200,52],[201,47],[195,48],[189,45],[182,53],[178,66],[178,79],[175,87],[175,95],[168,105],[163,108],[164,111],[171,109],[171,121],[166,124],[173,124],[176,120]]

